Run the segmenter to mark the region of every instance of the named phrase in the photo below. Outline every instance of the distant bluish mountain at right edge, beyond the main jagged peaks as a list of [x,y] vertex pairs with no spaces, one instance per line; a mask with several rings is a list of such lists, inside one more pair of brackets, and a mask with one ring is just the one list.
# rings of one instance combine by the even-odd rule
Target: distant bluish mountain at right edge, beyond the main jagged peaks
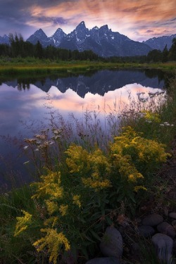
[[165,45],[167,45],[168,49],[172,46],[172,39],[176,38],[176,34],[172,34],[171,36],[163,36],[163,37],[153,37],[151,39],[142,42],[151,47],[151,49],[159,49],[163,51]]

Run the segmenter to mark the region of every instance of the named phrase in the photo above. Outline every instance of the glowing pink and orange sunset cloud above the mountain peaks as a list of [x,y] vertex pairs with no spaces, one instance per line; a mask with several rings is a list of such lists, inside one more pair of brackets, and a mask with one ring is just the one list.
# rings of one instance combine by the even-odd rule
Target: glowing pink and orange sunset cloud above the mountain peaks
[[[53,4],[50,8],[44,6],[35,5],[30,8],[31,20],[28,25],[38,26],[46,29],[46,32],[51,27],[53,32],[58,27],[61,27],[66,33],[69,33],[75,28],[82,20],[86,23],[86,26],[90,29],[97,25],[108,24],[109,28],[113,31],[118,31],[121,34],[126,34],[132,39],[147,38],[154,34],[162,34],[165,30],[173,32],[175,30],[175,0],[168,0],[165,4],[164,0],[78,0],[78,1],[63,1],[60,4]],[[42,25],[37,18],[39,16],[46,18],[63,18],[68,21],[54,27],[52,22],[46,22]],[[168,25],[162,26],[163,22],[167,22]],[[161,27],[158,30],[158,27]],[[156,30],[155,30],[156,28]],[[148,32],[147,30],[153,30]],[[135,32],[138,32],[136,34]]]

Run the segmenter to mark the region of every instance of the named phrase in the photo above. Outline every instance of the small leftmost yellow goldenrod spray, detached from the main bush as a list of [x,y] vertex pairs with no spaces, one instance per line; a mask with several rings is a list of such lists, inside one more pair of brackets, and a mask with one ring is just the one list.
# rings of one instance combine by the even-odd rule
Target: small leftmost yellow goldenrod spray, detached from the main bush
[[17,217],[17,223],[15,226],[15,232],[14,236],[17,236],[21,232],[27,229],[28,225],[32,222],[32,215],[30,213],[27,213],[25,210],[22,210],[24,216],[22,217]]

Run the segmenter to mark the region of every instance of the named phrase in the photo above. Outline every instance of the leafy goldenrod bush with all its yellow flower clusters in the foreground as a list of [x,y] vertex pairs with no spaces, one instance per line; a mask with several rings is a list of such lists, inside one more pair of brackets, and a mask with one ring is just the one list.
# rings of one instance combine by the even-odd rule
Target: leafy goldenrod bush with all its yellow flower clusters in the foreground
[[[76,251],[86,258],[92,255],[105,226],[117,219],[120,204],[127,203],[128,213],[134,213],[139,189],[147,191],[151,172],[169,156],[163,144],[145,139],[132,127],[125,127],[108,149],[87,151],[71,144],[60,171],[46,170],[32,184],[32,199],[46,212],[42,238],[33,245],[37,251],[47,249],[49,261],[56,263]],[[32,228],[32,215],[24,213],[17,218],[15,235]]]

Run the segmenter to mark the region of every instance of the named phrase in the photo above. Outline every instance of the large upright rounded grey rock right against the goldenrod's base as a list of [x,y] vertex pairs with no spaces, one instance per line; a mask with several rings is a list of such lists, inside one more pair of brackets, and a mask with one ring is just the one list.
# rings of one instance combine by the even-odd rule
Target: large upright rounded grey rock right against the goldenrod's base
[[123,251],[122,236],[115,227],[107,227],[100,244],[101,253],[107,257],[121,258]]

